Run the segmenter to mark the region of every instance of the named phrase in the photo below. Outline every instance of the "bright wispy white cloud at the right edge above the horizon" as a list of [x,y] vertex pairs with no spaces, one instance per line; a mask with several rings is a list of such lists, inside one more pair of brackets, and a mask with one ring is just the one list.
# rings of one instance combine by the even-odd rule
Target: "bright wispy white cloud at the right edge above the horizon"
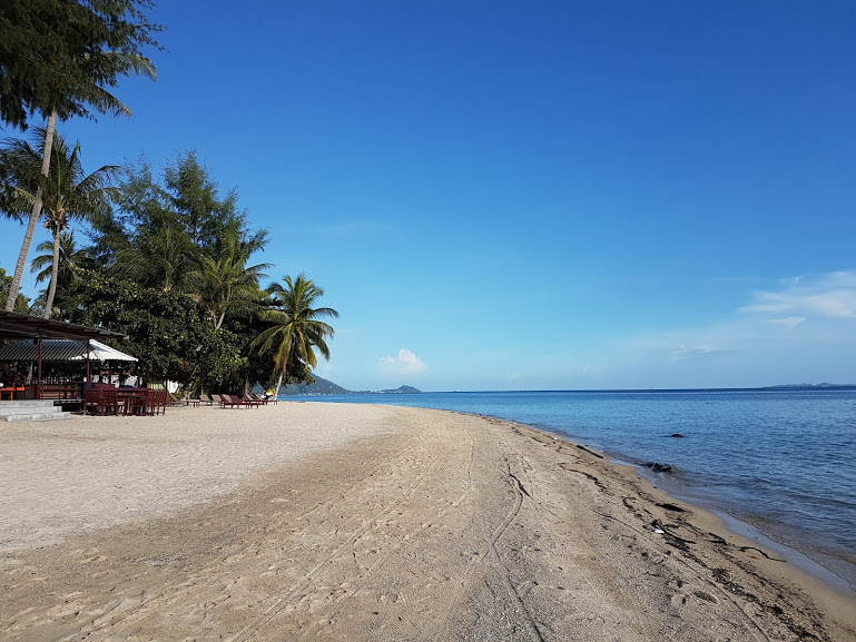
[[[785,279],[780,289],[758,290],[754,298],[755,302],[740,312],[790,315],[786,318],[801,318],[799,324],[811,317],[856,318],[856,271]],[[784,325],[788,326],[788,323]]]

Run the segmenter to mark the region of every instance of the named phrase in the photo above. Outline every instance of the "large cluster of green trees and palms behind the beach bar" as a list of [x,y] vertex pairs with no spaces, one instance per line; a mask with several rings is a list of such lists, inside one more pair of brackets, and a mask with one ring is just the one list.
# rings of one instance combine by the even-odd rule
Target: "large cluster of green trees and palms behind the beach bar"
[[[6,145],[8,152],[22,144]],[[56,154],[63,150],[72,151],[61,144]],[[68,172],[51,169],[46,179],[33,171],[49,204],[49,181]],[[139,359],[147,381],[211,392],[277,378],[311,383],[316,353],[329,356],[333,328],[322,319],[337,313],[317,307],[323,289],[305,275],[263,289],[270,266],[253,258],[267,231],[250,228],[237,190],[222,195],[195,152],[161,171],[139,161],[119,176],[109,207],[79,221],[89,245],[77,245],[71,217],[51,224],[55,243],[39,246],[32,269],[45,280],[57,268],[55,317],[127,333],[117,347]],[[48,302],[40,296],[30,314]]]

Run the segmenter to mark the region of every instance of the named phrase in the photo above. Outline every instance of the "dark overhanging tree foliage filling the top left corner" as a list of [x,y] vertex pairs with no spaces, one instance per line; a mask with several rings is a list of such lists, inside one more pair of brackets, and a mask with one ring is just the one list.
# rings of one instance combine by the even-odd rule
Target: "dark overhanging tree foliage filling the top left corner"
[[0,2],[0,120],[21,129],[27,118],[60,120],[124,113],[105,88],[146,72],[146,47],[161,29],[144,14],[150,0],[3,0]]

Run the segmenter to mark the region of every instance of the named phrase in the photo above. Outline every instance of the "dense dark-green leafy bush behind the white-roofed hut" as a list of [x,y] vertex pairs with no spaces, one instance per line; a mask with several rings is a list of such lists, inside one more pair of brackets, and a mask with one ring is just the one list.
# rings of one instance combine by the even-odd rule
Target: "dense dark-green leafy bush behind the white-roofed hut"
[[216,332],[185,296],[86,270],[75,295],[70,320],[128,334],[118,347],[136,356],[151,379],[210,389],[232,381],[245,364],[240,337]]

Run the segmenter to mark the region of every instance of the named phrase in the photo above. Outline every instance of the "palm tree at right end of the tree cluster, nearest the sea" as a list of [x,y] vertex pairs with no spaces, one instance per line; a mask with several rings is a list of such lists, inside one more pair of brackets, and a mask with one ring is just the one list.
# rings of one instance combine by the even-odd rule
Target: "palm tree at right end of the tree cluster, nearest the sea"
[[277,308],[264,310],[260,317],[274,325],[253,339],[250,346],[257,347],[259,353],[275,349],[273,374],[278,375],[276,397],[283,378],[286,384],[304,381],[317,365],[314,348],[325,359],[329,359],[326,339],[332,338],[335,332],[321,317],[338,317],[338,313],[328,307],[313,308],[324,296],[324,290],[306,278],[305,274],[294,280],[286,276],[285,287],[274,283],[267,293],[274,297]]

